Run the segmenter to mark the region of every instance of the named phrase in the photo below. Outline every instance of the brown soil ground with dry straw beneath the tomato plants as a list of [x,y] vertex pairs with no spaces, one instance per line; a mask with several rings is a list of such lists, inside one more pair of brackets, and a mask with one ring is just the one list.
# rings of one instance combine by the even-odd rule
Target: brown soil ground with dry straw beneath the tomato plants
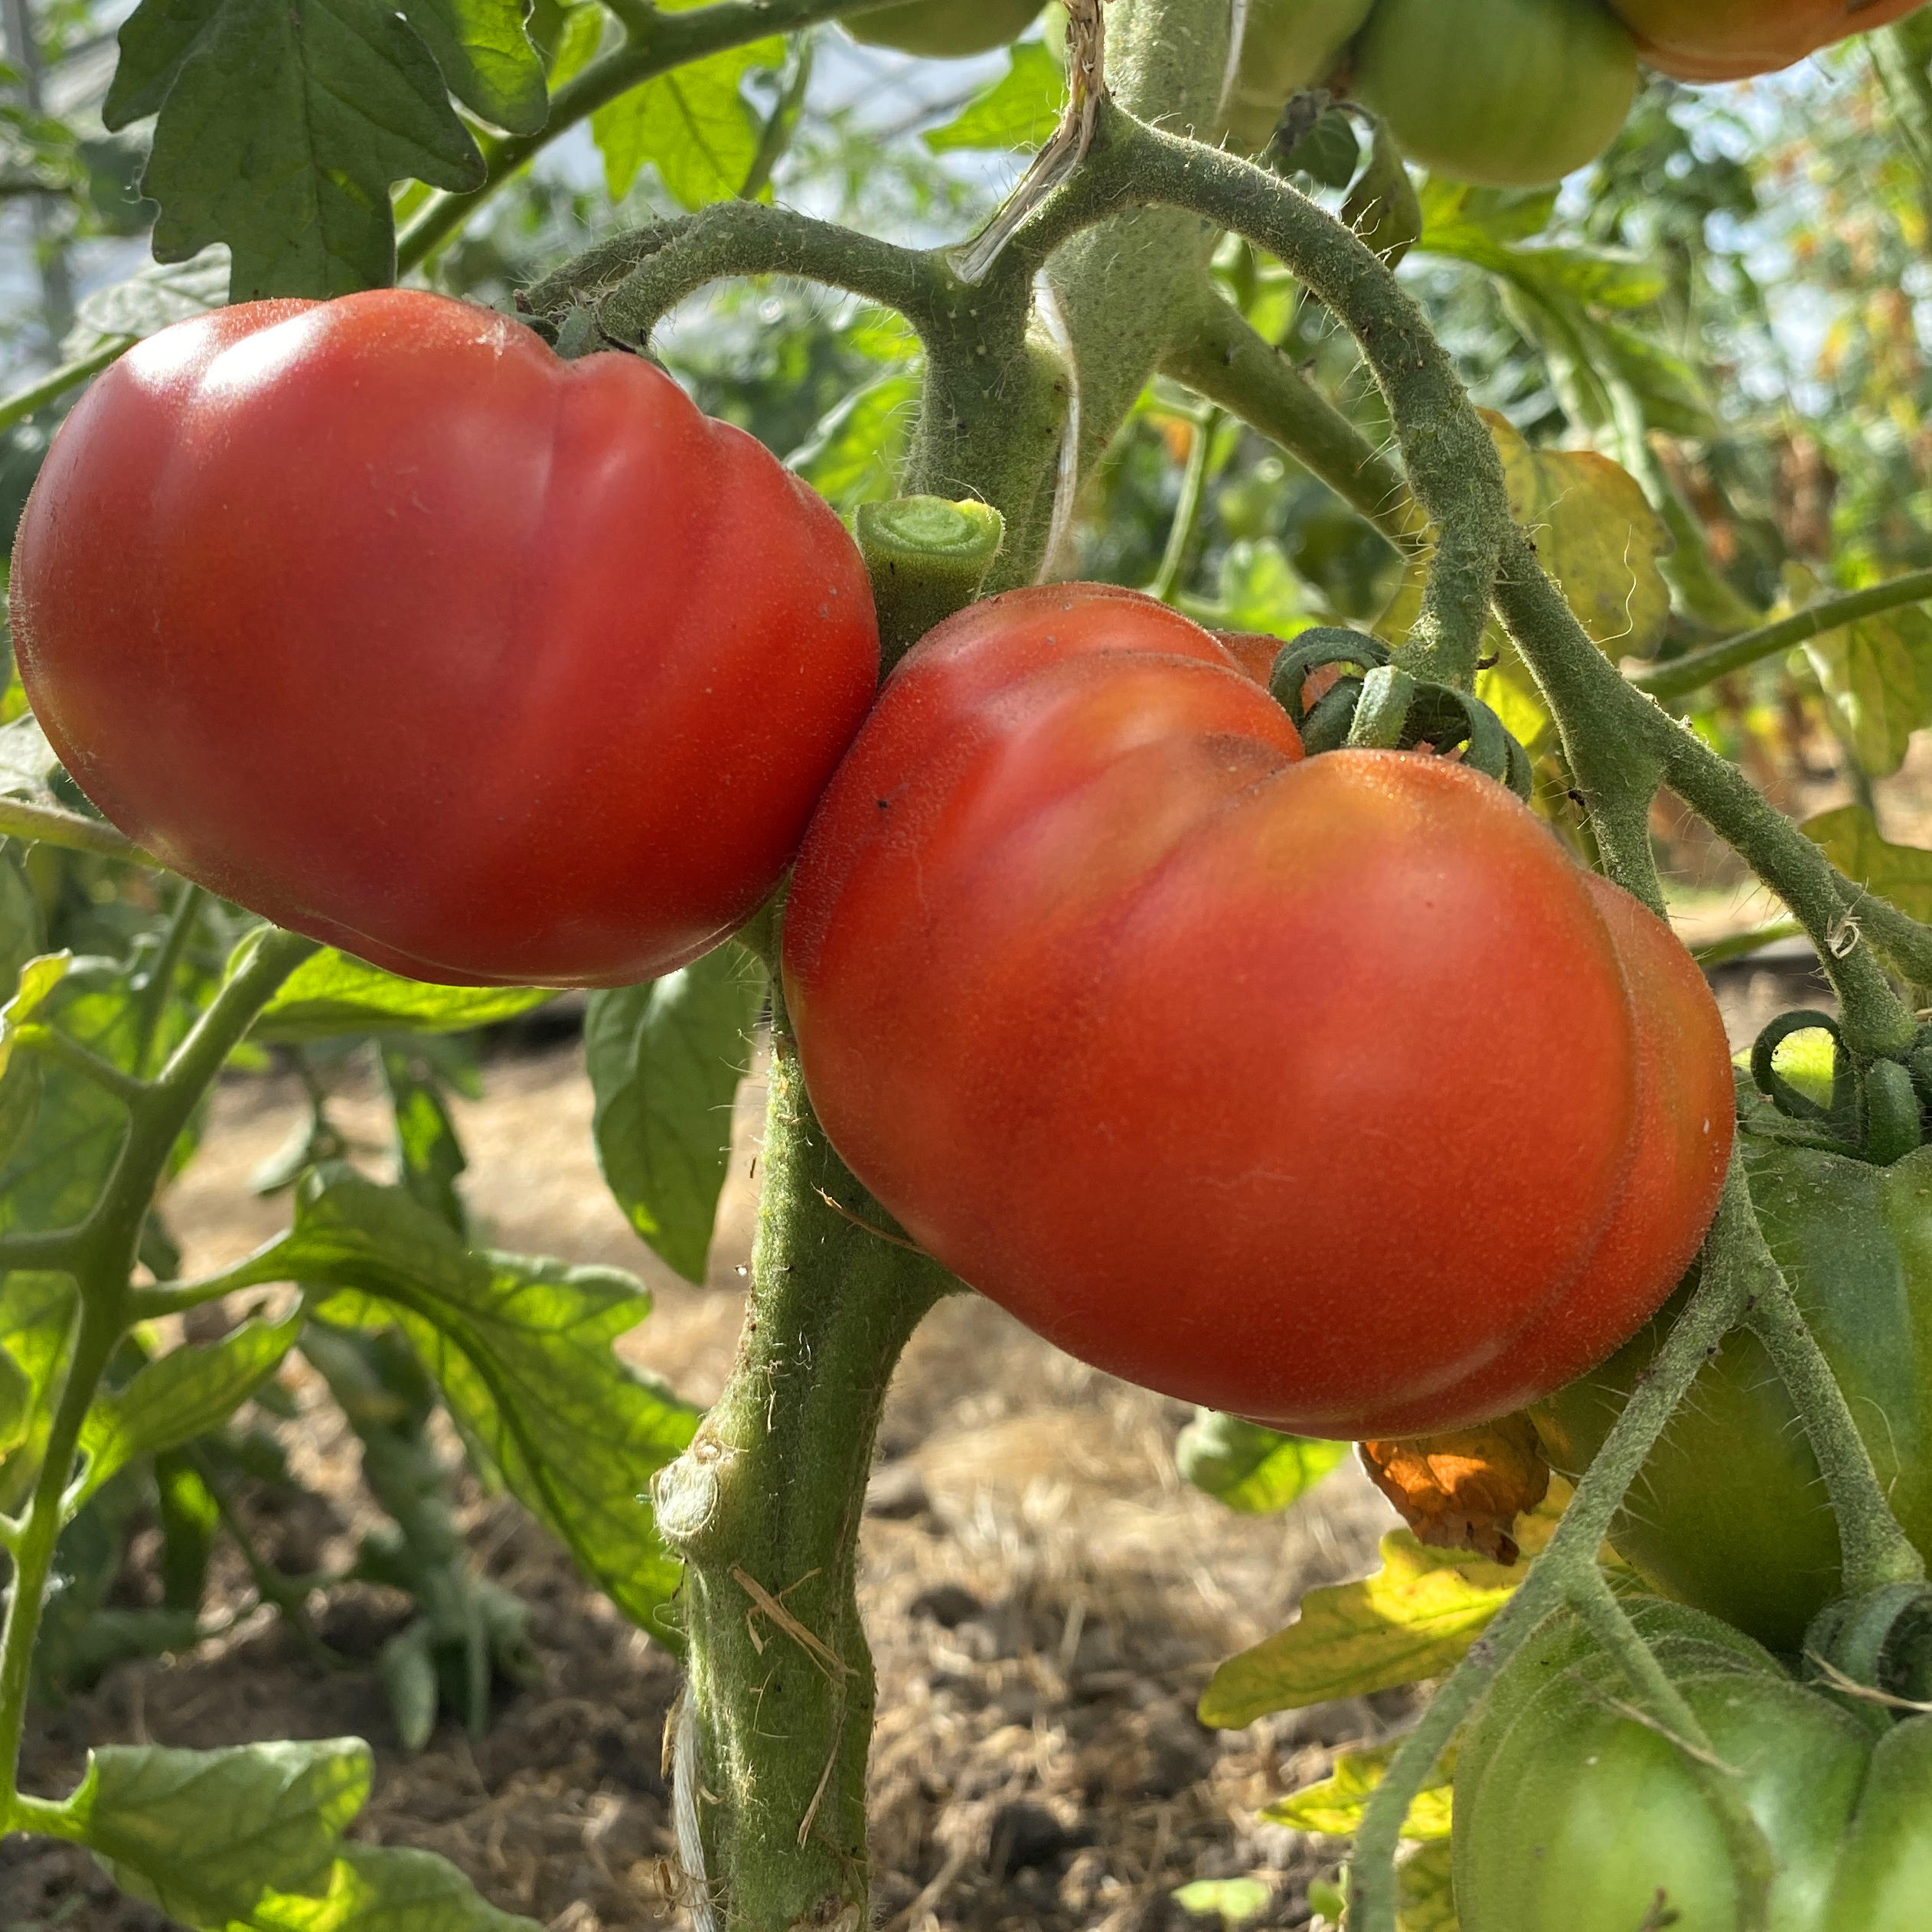
[[[1816,991],[1789,968],[1725,978],[1739,1039],[1801,1003]],[[286,1076],[220,1088],[207,1151],[168,1202],[185,1271],[280,1231],[284,1204],[257,1198],[249,1177],[299,1105]],[[709,1401],[742,1310],[759,1107],[753,1080],[740,1095],[705,1289],[659,1267],[605,1192],[574,1041],[526,1039],[491,1061],[487,1097],[460,1107],[468,1198],[497,1246],[643,1275],[657,1306],[622,1347]],[[381,1163],[369,1086],[352,1080],[336,1111]],[[292,1366],[288,1379],[301,1414],[278,1428],[315,1501],[261,1517],[255,1530],[288,1573],[340,1567],[371,1520],[355,1443],[313,1378]],[[1213,1663],[1289,1621],[1304,1590],[1372,1567],[1393,1515],[1347,1464],[1281,1517],[1235,1517],[1175,1474],[1186,1416],[1070,1362],[974,1296],[943,1304],[916,1337],[883,1428],[879,1511],[864,1532],[887,1932],[1179,1932],[1190,1920],[1173,1888],[1236,1874],[1271,1888],[1250,1924],[1308,1922],[1308,1884],[1343,1847],[1262,1826],[1256,1812],[1323,1776],[1337,1745],[1385,1735],[1406,1694],[1219,1735],[1200,1727],[1194,1704]],[[357,1733],[377,1754],[357,1835],[444,1853],[489,1899],[551,1932],[688,1924],[667,1882],[670,1658],[585,1588],[514,1503],[462,1493],[473,1557],[531,1604],[541,1660],[535,1683],[502,1694],[487,1735],[444,1721],[427,1750],[398,1748],[373,1654],[396,1629],[400,1598],[344,1586],[313,1602],[321,1631],[369,1660],[325,1671],[270,1611],[247,1611],[249,1580],[230,1557],[216,1596],[243,1611],[234,1629],[185,1656],[122,1665],[89,1694],[37,1712],[25,1787],[68,1789],[100,1743]],[[0,1841],[0,1932],[164,1924],[118,1897],[83,1855]]]

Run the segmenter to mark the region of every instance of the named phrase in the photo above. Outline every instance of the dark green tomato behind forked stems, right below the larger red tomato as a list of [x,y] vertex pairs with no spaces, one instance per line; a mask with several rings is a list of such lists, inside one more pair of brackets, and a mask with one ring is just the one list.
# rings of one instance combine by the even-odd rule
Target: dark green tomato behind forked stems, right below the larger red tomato
[[[1899,1522],[1932,1551],[1932,1148],[1874,1167],[1764,1138],[1748,1121],[1737,1146],[1772,1254]],[[1578,1476],[1604,1445],[1677,1306],[1536,1406],[1559,1472]],[[1781,1652],[1837,1596],[1837,1524],[1818,1463],[1754,1335],[1729,1335],[1698,1374],[1609,1540],[1652,1588]]]

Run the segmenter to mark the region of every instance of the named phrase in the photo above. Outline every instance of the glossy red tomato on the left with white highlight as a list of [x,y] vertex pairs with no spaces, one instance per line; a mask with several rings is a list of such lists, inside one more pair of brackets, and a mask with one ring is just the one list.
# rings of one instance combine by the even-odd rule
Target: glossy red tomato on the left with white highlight
[[406,290],[129,350],[27,502],[14,636],[131,838],[458,983],[711,947],[879,667],[858,549],[757,442],[647,361]]

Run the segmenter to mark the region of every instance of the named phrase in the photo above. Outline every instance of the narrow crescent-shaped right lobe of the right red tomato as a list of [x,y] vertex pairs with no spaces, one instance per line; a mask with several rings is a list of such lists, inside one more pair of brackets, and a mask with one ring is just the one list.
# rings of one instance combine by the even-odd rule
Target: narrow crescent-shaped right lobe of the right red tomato
[[1696,1260],[1731,1163],[1731,1063],[1704,974],[1629,893],[1588,871],[1582,883],[1615,941],[1636,1018],[1634,1157],[1582,1273],[1457,1391],[1492,1414],[1534,1401],[1526,1389],[1575,1381],[1656,1312]]

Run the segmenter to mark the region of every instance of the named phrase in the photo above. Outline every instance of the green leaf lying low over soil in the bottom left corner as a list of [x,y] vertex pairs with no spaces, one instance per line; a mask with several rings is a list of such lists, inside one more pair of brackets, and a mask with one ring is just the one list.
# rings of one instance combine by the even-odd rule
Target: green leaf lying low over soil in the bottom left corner
[[342,1845],[369,1747],[110,1745],[62,1806],[108,1876],[193,1932],[535,1932],[427,1851]]

